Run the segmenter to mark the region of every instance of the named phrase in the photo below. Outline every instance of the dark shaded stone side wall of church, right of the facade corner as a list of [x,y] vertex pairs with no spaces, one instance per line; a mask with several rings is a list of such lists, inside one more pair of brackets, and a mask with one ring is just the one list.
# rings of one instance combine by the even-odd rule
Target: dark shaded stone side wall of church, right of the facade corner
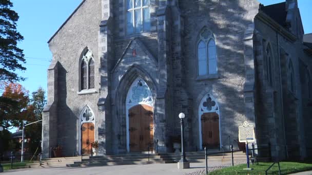
[[[296,24],[294,21],[300,18],[298,14],[296,9],[288,10],[287,23]],[[291,33],[277,24],[271,27],[261,17],[256,18],[255,25],[258,32],[255,45],[259,48],[255,51],[257,55],[257,123],[261,127],[258,130],[258,138],[263,144],[265,141],[271,143],[271,154],[276,159],[303,159],[306,156],[304,133],[307,131],[304,130],[304,123],[307,120],[303,116],[301,89],[304,84],[300,82],[300,69],[302,69],[300,60],[306,57],[301,42],[302,35],[300,32],[297,35],[294,26],[291,30],[289,29]],[[297,29],[302,30],[302,26]],[[286,32],[284,33],[283,30]],[[268,74],[266,46],[268,44],[272,50],[272,86],[266,78]],[[294,67],[295,90],[293,92],[289,90],[290,84],[287,77],[289,60]],[[306,65],[308,64],[306,62]]]

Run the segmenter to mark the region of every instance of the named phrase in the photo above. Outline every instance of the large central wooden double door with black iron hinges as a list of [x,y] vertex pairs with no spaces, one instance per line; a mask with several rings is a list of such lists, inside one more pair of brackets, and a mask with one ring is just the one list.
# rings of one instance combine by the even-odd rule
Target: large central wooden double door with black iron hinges
[[129,110],[129,148],[131,152],[147,151],[153,147],[153,108],[139,104]]

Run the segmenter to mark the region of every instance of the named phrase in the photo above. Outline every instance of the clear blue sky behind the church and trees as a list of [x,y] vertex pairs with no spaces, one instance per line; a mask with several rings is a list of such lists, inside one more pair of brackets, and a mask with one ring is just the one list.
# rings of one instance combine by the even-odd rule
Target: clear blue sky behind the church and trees
[[[312,0],[298,0],[305,33],[312,33],[310,9]],[[81,0],[11,0],[19,15],[17,30],[25,37],[19,43],[26,56],[27,71],[19,72],[27,80],[21,84],[31,92],[39,86],[47,89],[47,68],[52,59],[47,41],[81,3]],[[264,5],[283,0],[260,0]]]

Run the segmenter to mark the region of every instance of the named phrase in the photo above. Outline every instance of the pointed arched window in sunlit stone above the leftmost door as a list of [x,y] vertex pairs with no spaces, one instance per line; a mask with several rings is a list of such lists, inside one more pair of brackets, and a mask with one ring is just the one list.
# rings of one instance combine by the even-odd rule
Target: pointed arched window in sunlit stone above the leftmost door
[[94,58],[89,49],[85,49],[80,60],[80,90],[94,88]]

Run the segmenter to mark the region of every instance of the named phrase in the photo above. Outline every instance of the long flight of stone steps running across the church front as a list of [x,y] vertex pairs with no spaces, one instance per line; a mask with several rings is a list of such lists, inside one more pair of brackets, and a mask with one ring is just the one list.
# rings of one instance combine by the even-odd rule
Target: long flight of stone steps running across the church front
[[[213,155],[209,155],[213,154]],[[205,152],[186,152],[186,159],[191,163],[205,162]],[[242,151],[234,152],[235,162],[246,161],[246,154]],[[113,165],[139,165],[139,164],[161,164],[177,163],[181,159],[181,153],[147,154],[147,152],[131,153],[124,155],[110,156],[84,156],[67,158],[44,159],[40,167],[87,167],[87,166],[113,166]],[[267,161],[265,158],[258,158],[258,161]],[[208,152],[208,162],[231,163],[230,153],[220,153],[217,151]],[[38,165],[34,165],[38,166]]]

